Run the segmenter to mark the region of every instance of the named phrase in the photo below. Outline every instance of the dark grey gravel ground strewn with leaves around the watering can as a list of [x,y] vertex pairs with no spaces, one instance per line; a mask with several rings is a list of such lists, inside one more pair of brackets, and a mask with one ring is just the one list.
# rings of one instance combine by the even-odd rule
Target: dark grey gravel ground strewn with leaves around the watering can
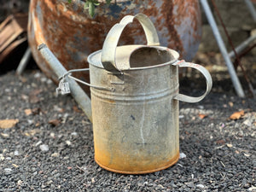
[[13,124],[0,127],[0,191],[256,191],[255,98],[214,84],[202,102],[180,102],[177,164],[122,175],[97,166],[92,125],[39,70],[3,74],[0,86],[0,120]]

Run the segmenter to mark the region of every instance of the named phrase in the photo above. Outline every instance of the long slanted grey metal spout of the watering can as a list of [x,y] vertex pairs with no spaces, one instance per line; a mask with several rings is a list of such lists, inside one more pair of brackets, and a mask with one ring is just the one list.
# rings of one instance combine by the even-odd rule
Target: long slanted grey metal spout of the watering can
[[[46,44],[40,44],[38,50],[44,57],[44,60],[49,63],[49,66],[53,69],[58,77],[67,73],[67,70],[61,65],[61,62],[55,57],[55,55],[49,50]],[[79,86],[79,84],[73,79],[67,79],[70,85],[70,90],[73,98],[79,103],[80,108],[83,109],[84,113],[87,115],[90,122],[92,122],[91,116],[91,104],[90,98],[84,93],[84,90]]]

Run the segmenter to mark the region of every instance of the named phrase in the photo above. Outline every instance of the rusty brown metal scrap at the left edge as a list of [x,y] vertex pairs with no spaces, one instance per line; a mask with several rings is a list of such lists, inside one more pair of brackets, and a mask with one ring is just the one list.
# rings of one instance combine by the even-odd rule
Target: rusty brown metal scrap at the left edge
[[0,63],[26,41],[27,14],[9,15],[0,25]]

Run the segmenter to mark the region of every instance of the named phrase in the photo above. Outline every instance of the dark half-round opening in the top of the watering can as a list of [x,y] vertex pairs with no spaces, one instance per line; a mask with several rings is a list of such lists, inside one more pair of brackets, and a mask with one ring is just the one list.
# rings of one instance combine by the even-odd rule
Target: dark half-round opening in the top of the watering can
[[170,64],[177,61],[178,54],[172,49],[160,46],[143,46],[135,49],[130,55],[130,67],[151,67]]

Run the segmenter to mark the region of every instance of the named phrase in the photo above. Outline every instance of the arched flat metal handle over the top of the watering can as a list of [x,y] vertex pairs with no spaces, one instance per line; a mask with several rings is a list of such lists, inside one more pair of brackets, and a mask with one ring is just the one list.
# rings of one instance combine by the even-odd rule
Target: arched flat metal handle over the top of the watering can
[[115,62],[116,48],[119,42],[119,38],[129,23],[131,23],[134,18],[136,18],[140,24],[143,26],[145,32],[147,43],[150,46],[158,46],[159,38],[156,29],[151,20],[149,20],[147,15],[137,14],[135,16],[126,15],[118,24],[115,24],[111,30],[108,32],[108,36],[104,41],[102,48],[102,66],[108,71],[119,71],[119,67]]

